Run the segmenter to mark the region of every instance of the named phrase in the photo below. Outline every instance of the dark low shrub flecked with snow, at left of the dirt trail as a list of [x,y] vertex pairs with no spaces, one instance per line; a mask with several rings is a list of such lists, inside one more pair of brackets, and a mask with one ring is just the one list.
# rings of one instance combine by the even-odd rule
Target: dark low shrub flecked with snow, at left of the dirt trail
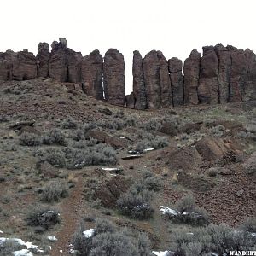
[[26,222],[30,226],[40,226],[48,230],[51,226],[61,222],[60,214],[52,207],[38,206],[31,208]]

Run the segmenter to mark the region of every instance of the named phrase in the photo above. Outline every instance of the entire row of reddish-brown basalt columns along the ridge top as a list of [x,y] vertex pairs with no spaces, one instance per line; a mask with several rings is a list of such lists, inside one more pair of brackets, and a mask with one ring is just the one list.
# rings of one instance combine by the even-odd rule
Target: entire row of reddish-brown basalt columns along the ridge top
[[[216,104],[256,100],[256,55],[250,49],[222,44],[192,50],[183,62],[166,60],[152,50],[143,58],[133,52],[133,91],[125,96],[125,61],[117,49],[104,59],[98,50],[82,56],[67,47],[67,40],[38,44],[38,55],[26,49],[0,52],[0,80],[52,78],[81,83],[84,92],[98,100],[137,109]],[[184,74],[183,74],[184,73]]]

